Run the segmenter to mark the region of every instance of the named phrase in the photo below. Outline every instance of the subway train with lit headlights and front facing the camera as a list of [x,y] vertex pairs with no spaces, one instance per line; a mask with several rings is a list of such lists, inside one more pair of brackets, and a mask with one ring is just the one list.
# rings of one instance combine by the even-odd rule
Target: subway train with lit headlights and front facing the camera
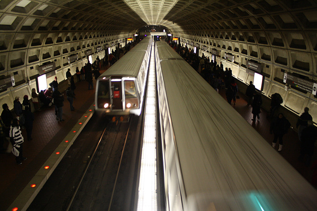
[[140,115],[151,54],[146,37],[97,80],[95,111],[107,115]]

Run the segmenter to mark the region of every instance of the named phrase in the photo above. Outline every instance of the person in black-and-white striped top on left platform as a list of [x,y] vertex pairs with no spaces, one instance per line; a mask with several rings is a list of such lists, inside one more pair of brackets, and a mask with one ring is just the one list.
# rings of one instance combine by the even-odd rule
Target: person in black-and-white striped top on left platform
[[22,164],[27,158],[23,157],[23,142],[24,138],[21,133],[21,127],[19,126],[18,119],[13,119],[12,125],[9,131],[11,144],[19,152],[18,156],[15,156],[15,161],[18,165]]

